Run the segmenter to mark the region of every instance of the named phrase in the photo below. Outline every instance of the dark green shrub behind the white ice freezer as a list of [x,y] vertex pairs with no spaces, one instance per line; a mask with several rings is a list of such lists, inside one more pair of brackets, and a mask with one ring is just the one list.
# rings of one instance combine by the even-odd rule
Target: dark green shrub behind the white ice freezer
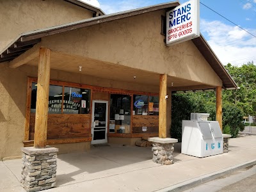
[[[238,132],[244,130],[242,109],[236,104],[225,103],[222,111],[223,133],[231,134],[232,138],[236,138]],[[171,136],[177,138],[179,142],[182,138],[182,120],[190,120],[190,113],[209,113],[208,120],[214,121],[216,120],[215,101],[205,99],[203,94],[172,95]]]

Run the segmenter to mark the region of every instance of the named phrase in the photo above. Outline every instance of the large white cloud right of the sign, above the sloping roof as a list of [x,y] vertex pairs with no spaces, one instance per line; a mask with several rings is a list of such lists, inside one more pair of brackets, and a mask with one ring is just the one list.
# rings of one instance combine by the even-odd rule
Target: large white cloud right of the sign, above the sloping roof
[[[256,34],[256,29],[246,29]],[[223,65],[256,61],[256,38],[237,26],[201,19],[200,31]],[[256,63],[256,62],[255,62]]]

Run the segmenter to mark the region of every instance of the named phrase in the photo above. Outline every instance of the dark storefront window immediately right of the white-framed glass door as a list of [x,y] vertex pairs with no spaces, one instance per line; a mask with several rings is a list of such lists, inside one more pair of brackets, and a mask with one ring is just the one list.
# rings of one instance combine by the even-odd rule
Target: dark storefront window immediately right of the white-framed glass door
[[109,132],[131,132],[131,96],[110,95],[110,122]]

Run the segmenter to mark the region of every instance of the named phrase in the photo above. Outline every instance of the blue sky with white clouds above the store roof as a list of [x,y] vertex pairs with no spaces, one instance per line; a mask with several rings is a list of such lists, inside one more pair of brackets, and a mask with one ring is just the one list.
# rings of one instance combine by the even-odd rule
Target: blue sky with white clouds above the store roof
[[[97,6],[109,14],[172,0],[80,1]],[[180,0],[180,3],[184,2],[186,0]],[[256,0],[200,0],[200,33],[223,65],[231,63],[241,66],[248,61],[256,63]]]

